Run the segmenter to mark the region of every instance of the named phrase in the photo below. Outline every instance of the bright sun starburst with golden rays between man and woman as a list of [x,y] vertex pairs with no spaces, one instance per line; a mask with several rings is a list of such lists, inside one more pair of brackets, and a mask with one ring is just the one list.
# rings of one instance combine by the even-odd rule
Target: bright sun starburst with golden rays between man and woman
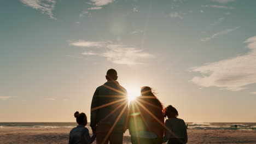
[[[108,131],[108,133],[106,135],[106,137],[104,138],[103,143],[107,142],[109,135],[112,133],[113,129],[115,128],[115,126],[119,122],[119,119],[121,118],[121,116],[123,116],[125,114],[124,113],[125,111],[127,112],[127,114],[125,114],[125,115],[127,115],[127,117],[125,118],[126,119],[126,124],[125,124],[124,130],[126,130],[126,128],[127,128],[126,125],[128,125],[129,117],[131,117],[133,119],[133,121],[134,121],[133,124],[135,126],[136,131],[137,131],[138,127],[141,127],[141,125],[138,125],[139,124],[138,120],[142,120],[141,122],[143,122],[145,124],[146,129],[150,129],[149,128],[150,125],[147,124],[148,119],[146,119],[143,116],[143,113],[142,113],[142,110],[143,110],[143,111],[146,111],[146,113],[148,115],[150,115],[157,123],[159,123],[161,125],[161,127],[163,127],[165,130],[167,130],[169,133],[173,134],[172,131],[166,127],[164,122],[160,121],[160,119],[157,116],[155,116],[147,108],[147,107],[154,107],[154,109],[156,109],[156,108],[161,109],[159,106],[154,105],[152,103],[149,103],[146,100],[146,99],[151,99],[151,98],[154,98],[154,97],[152,97],[152,96],[144,96],[143,95],[143,98],[142,97],[136,98],[141,93],[139,91],[139,88],[137,89],[135,87],[127,88],[127,94],[126,94],[126,92],[123,91],[123,89],[121,89],[121,91],[120,91],[120,89],[115,89],[113,87],[109,87],[109,86],[106,86],[106,85],[103,85],[103,86],[120,94],[120,95],[102,95],[101,97],[117,98],[117,100],[111,101],[111,102],[109,102],[107,104],[103,104],[103,105],[100,105],[100,106],[97,106],[97,107],[92,107],[92,109],[91,109],[91,111],[94,111],[94,110],[102,109],[103,107],[107,107],[107,106],[110,106],[110,105],[114,105],[114,104],[117,105],[117,107],[115,107],[115,109],[112,112],[108,113],[108,115],[106,115],[102,119],[102,120],[104,120],[104,119],[107,119],[109,116],[112,116],[114,114],[115,115],[118,114],[117,119],[115,119],[114,123],[111,125],[111,127],[110,127],[110,129],[109,129],[109,131]],[[131,101],[134,101],[134,102],[131,103]],[[131,105],[130,105],[130,103],[131,103]],[[138,115],[141,116],[141,119],[137,119]],[[138,137],[138,133],[136,133],[136,137]]]

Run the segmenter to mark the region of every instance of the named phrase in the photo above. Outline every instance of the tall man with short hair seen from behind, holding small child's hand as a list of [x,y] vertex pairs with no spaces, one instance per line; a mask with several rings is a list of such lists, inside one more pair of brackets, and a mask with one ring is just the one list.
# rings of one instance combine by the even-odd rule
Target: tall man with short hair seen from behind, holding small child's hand
[[97,144],[123,143],[127,116],[127,92],[117,81],[117,71],[109,69],[107,82],[98,87],[91,101],[91,129]]

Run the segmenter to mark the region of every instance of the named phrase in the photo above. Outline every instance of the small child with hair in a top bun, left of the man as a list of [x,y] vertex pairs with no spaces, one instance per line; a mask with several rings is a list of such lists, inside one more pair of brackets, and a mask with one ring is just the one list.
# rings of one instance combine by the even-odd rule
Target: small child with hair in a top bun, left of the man
[[74,117],[77,118],[77,127],[73,128],[69,133],[69,144],[90,144],[92,143],[96,135],[90,137],[89,130],[85,128],[87,124],[87,117],[85,113],[74,113]]

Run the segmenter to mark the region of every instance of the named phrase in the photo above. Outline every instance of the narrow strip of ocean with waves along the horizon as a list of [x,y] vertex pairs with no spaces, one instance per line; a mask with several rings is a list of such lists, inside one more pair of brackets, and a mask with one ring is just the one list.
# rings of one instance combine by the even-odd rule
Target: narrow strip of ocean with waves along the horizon
[[[224,130],[255,130],[256,123],[198,123],[190,122],[188,129],[224,129]],[[87,124],[89,127],[90,123]],[[77,126],[75,122],[0,122],[0,128],[3,127],[19,127],[19,128],[74,128]]]

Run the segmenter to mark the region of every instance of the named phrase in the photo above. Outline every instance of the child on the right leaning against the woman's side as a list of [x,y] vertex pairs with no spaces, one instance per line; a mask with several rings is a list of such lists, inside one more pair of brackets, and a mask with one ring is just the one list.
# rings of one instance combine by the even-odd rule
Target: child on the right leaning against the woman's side
[[183,119],[177,118],[178,111],[175,107],[168,105],[164,109],[164,116],[168,117],[165,121],[166,129],[162,143],[184,144],[188,142],[187,126]]

